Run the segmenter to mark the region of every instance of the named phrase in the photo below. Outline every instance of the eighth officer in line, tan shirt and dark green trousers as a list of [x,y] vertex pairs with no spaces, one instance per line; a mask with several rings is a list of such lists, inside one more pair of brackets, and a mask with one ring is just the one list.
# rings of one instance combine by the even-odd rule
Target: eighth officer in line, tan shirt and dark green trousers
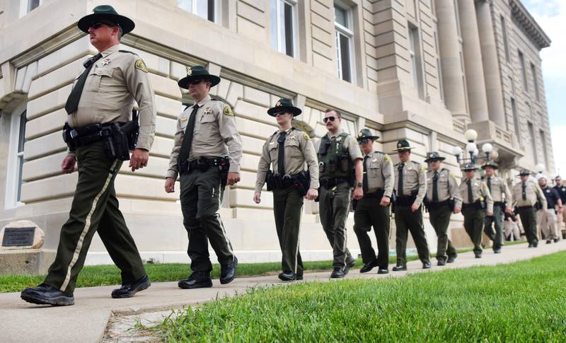
[[490,190],[482,180],[475,178],[475,167],[473,163],[467,163],[462,170],[466,173],[460,184],[462,194],[462,214],[464,216],[464,228],[473,243],[475,258],[482,257],[482,230],[484,223],[484,211],[487,216],[493,215],[493,199]]

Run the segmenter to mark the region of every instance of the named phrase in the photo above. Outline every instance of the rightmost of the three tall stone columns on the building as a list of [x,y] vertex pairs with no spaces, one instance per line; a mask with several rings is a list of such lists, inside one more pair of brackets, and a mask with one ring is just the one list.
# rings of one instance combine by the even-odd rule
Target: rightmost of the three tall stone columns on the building
[[480,44],[483,56],[483,76],[485,78],[485,91],[487,93],[487,108],[490,120],[497,126],[505,127],[505,112],[503,107],[503,91],[501,74],[499,74],[499,59],[490,4],[487,1],[475,3],[478,27],[480,28]]

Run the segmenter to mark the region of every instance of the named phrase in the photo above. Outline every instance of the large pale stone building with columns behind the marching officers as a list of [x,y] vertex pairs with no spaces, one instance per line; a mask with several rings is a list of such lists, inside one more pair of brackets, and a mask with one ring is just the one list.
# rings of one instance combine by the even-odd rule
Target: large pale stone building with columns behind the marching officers
[[[0,225],[33,220],[46,248],[57,246],[77,178],[60,173],[63,106],[96,53],[76,21],[99,4],[135,21],[123,49],[144,59],[156,93],[149,166],[123,168],[116,181],[146,259],[187,260],[178,193],[163,184],[175,119],[190,103],[177,80],[195,64],[221,76],[212,93],[233,107],[243,138],[242,180],[221,209],[242,261],[280,257],[270,193],[260,205],[252,197],[261,146],[276,129],[266,110],[282,96],[303,108],[295,124],[313,137],[325,133],[323,110],[335,107],[347,132],[381,136],[377,149],[406,138],[416,161],[440,151],[458,176],[452,151],[470,128],[478,144],[495,147],[509,182],[520,168],[554,168],[539,55],[550,40],[519,0],[0,0]],[[355,252],[351,220],[349,233]],[[432,228],[427,235],[434,250]],[[460,216],[451,236],[469,244]],[[331,256],[314,203],[301,250],[306,260]],[[96,238],[87,263],[103,262]]]

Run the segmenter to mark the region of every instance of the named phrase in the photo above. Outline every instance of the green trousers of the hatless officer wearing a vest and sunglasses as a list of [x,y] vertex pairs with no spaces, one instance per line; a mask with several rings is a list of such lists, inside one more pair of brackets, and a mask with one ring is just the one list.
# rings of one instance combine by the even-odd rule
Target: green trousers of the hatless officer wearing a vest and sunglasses
[[320,223],[333,248],[333,265],[343,268],[354,260],[350,250],[346,248],[346,219],[350,209],[350,185],[348,182],[341,182],[330,189],[320,187],[318,199]]

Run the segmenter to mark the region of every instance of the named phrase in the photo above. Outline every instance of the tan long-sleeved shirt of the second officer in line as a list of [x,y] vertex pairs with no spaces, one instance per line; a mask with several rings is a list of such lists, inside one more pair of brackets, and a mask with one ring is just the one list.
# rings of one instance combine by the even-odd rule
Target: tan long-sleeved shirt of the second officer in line
[[[192,134],[189,161],[199,158],[228,156],[230,161],[229,172],[239,173],[242,158],[242,139],[236,129],[236,120],[232,109],[219,100],[213,100],[210,95],[200,100],[197,105],[199,105],[199,109],[195,119],[195,131]],[[175,133],[173,151],[171,151],[169,158],[167,178],[177,178],[177,158],[194,106],[187,107],[177,119],[177,132]]]

